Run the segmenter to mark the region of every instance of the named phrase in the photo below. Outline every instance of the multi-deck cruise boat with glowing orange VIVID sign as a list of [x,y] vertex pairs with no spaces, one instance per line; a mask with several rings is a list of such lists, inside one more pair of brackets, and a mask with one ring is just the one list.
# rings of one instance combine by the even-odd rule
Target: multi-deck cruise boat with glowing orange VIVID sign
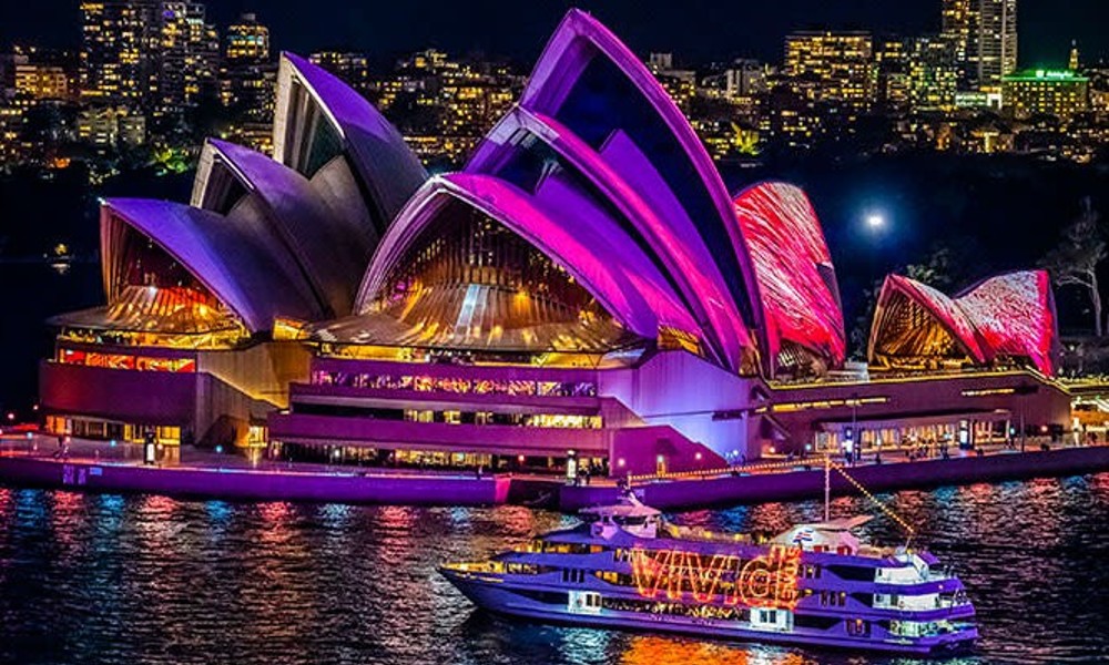
[[479,607],[543,622],[915,655],[978,637],[963,584],[935,556],[859,542],[852,530],[869,515],[720,534],[629,493],[581,518],[440,573]]

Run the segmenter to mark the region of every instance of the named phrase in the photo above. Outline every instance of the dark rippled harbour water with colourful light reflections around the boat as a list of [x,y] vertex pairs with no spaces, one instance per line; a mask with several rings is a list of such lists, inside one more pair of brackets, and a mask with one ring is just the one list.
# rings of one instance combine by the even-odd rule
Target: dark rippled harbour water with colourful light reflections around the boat
[[[883,495],[952,563],[983,641],[959,664],[1109,657],[1109,474]],[[842,498],[835,514],[868,508]],[[735,531],[820,502],[673,515]],[[0,663],[908,664],[857,654],[517,623],[435,572],[572,518],[518,507],[226,503],[0,487]],[[895,524],[863,532],[897,544]]]

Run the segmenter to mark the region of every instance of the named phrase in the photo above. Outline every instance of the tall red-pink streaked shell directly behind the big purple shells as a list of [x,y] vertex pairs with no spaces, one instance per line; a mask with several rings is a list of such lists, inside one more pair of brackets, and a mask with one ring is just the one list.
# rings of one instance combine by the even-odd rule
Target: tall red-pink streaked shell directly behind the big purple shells
[[821,274],[831,274],[832,256],[808,197],[793,185],[763,183],[735,198],[735,213],[759,280],[767,355],[791,341],[841,365],[843,311]]

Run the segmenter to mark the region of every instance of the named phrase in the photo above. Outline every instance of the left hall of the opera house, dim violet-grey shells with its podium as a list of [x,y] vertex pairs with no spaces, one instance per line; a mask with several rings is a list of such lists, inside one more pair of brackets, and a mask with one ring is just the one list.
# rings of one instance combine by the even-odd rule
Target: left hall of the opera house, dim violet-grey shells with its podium
[[106,304],[53,321],[52,429],[246,443],[307,376],[299,326],[349,314],[379,225],[426,173],[334,76],[295,57],[281,73],[276,160],[211,141],[192,205],[103,203]]

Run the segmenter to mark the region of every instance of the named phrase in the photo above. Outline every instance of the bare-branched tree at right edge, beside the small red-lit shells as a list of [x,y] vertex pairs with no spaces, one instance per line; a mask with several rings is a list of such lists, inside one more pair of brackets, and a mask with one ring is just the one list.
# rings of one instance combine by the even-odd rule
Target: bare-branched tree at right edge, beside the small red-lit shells
[[1040,267],[1051,275],[1056,286],[1077,286],[1086,289],[1093,309],[1093,334],[1101,337],[1101,289],[1098,285],[1098,266],[1109,256],[1105,235],[1098,224],[1099,215],[1090,197],[1082,198],[1081,212],[1062,229],[1059,245],[1040,260]]

